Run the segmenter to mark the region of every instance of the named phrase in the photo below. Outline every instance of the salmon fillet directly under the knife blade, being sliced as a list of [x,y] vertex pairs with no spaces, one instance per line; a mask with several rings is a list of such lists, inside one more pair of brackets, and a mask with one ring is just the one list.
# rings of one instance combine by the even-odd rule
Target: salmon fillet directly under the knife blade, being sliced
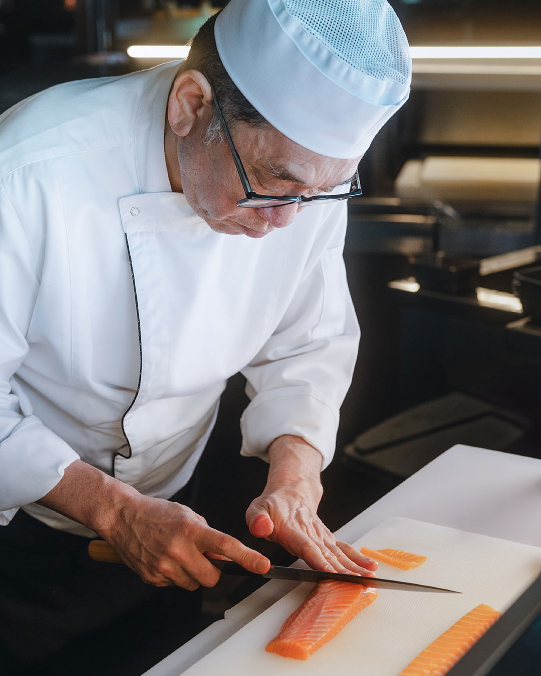
[[267,652],[307,660],[330,641],[356,614],[373,602],[377,592],[351,582],[322,580],[283,623]]

